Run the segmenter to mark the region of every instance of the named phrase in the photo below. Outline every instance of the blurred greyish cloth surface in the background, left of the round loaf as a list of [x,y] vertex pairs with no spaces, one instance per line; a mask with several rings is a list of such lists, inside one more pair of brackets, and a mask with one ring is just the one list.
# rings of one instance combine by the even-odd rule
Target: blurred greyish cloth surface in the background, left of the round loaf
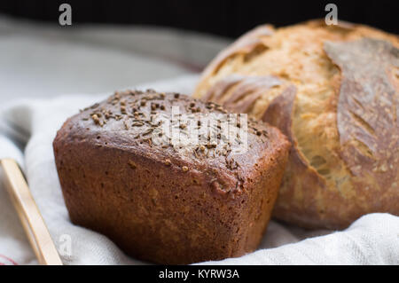
[[0,104],[199,72],[230,40],[170,28],[61,28],[0,15]]

